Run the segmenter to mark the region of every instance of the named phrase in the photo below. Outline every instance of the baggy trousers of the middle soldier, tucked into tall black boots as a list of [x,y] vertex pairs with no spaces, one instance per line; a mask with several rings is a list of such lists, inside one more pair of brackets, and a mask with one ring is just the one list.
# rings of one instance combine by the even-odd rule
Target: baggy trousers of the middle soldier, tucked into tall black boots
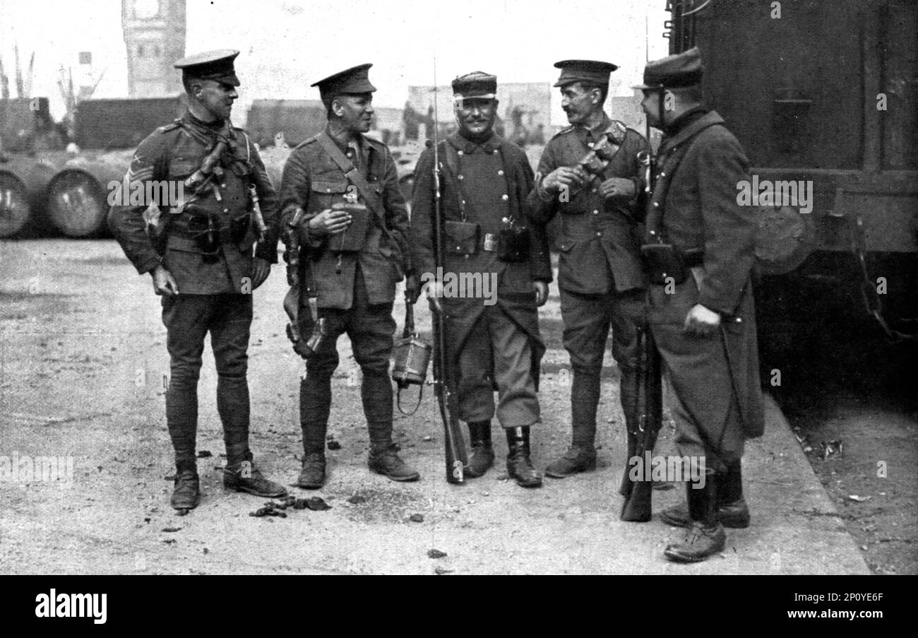
[[460,419],[491,420],[497,411],[504,428],[526,427],[539,420],[529,336],[498,304],[485,307],[462,348],[456,371]]

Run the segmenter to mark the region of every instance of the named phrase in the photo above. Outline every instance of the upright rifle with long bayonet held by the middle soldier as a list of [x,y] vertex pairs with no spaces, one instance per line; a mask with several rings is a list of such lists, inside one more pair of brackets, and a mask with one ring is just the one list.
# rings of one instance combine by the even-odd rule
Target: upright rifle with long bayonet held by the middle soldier
[[[440,140],[437,135],[437,60],[433,59],[433,261],[437,273],[446,269],[446,249],[443,229],[446,220],[443,218],[440,190]],[[427,142],[429,145],[431,141]],[[465,438],[462,423],[459,420],[458,395],[454,392],[453,375],[449,357],[446,353],[446,310],[434,309],[433,319],[433,394],[440,406],[440,418],[443,421],[443,444],[446,449],[446,481],[448,483],[465,483],[465,465],[468,456],[465,452]]]

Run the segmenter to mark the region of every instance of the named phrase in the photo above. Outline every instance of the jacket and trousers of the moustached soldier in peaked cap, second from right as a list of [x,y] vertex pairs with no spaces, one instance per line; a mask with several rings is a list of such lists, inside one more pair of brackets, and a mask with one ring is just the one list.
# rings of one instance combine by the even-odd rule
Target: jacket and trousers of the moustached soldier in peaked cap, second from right
[[[604,198],[601,180],[574,192],[549,194],[543,177],[562,166],[575,166],[600,136],[611,130],[620,148],[603,179],[632,180],[633,196]],[[640,352],[637,327],[643,322],[644,266],[639,244],[642,217],[636,210],[644,188],[638,153],[646,151],[644,136],[604,115],[596,129],[573,126],[548,142],[539,161],[535,188],[529,196],[532,220],[544,226],[561,214],[558,288],[561,292],[563,341],[574,371],[571,412],[575,446],[592,450],[599,401],[599,375],[612,329],[612,356],[621,368],[621,402],[626,418],[634,413],[632,389]]]

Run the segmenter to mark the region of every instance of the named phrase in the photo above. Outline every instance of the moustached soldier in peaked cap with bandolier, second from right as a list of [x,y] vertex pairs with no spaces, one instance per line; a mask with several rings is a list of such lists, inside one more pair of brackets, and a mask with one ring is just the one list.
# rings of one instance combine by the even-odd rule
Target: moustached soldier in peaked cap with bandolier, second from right
[[[612,356],[621,370],[621,408],[634,431],[641,353],[644,274],[636,206],[644,188],[638,152],[644,136],[609,118],[602,105],[609,92],[609,62],[557,62],[562,102],[571,126],[548,142],[529,196],[532,220],[544,226],[561,214],[558,288],[571,386],[570,449],[545,468],[563,478],[596,467],[596,412],[609,330]],[[589,172],[583,160],[602,150],[608,163]]]

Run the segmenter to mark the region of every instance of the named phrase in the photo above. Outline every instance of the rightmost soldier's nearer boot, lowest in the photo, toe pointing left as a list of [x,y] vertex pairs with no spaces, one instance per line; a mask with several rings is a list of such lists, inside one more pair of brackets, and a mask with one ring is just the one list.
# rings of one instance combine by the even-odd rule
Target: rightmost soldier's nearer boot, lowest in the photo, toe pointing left
[[723,525],[717,520],[718,475],[709,471],[704,487],[698,483],[687,484],[689,518],[691,525],[682,543],[666,545],[663,554],[674,563],[700,563],[714,554],[720,554],[727,542]]

